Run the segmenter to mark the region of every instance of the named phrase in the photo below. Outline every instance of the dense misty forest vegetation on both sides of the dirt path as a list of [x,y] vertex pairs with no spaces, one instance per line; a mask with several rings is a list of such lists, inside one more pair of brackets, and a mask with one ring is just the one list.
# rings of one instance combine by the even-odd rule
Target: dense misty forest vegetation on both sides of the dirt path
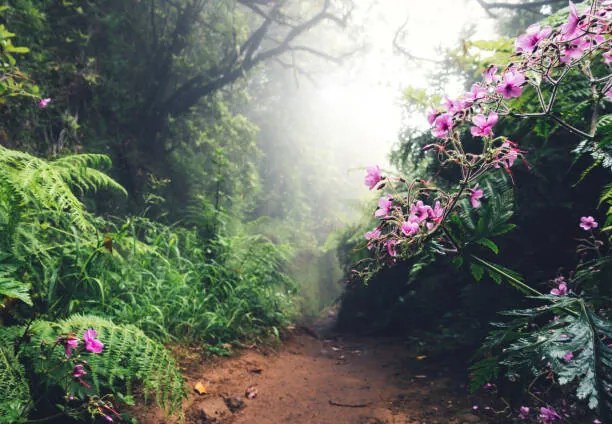
[[465,358],[487,422],[609,422],[612,2],[466,0],[494,39],[427,57],[392,28],[426,80],[382,153],[312,102],[371,3],[2,3],[0,422],[184,421],[186,350],[335,310]]

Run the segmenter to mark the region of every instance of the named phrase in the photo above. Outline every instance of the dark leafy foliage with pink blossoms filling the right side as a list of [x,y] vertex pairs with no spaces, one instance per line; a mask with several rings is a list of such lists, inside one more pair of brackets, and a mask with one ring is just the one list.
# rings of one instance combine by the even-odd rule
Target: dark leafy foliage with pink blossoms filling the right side
[[[382,197],[374,213],[378,218],[375,227],[365,233],[367,242],[357,243],[357,247],[367,244],[369,252],[361,252],[365,259],[354,262],[351,268],[356,271],[350,278],[353,287],[360,278],[371,279],[370,284],[379,287],[376,296],[370,295],[358,310],[395,307],[393,302],[403,298],[409,284],[421,293],[437,290],[443,298],[446,285],[428,280],[409,283],[406,276],[407,270],[418,267],[423,255],[435,255],[439,269],[444,270],[451,257],[453,265],[464,270],[453,276],[460,284],[466,284],[466,274],[476,281],[487,275],[498,284],[509,283],[532,298],[549,302],[529,307],[533,299],[510,299],[512,313],[520,319],[500,324],[491,332],[487,343],[496,346],[499,356],[488,352],[474,365],[473,388],[497,378],[502,369],[527,390],[531,386],[526,375],[545,375],[575,389],[574,396],[565,392],[572,408],[579,409],[579,400],[585,400],[605,418],[609,411],[604,398],[610,374],[606,284],[610,240],[595,236],[592,230],[597,222],[586,215],[596,215],[588,211],[598,198],[600,204],[609,203],[609,188],[604,186],[609,184],[607,124],[612,98],[607,57],[610,5],[595,1],[586,9],[584,5],[578,8],[576,12],[573,5],[570,7],[569,18],[565,13],[530,27],[515,41],[513,50],[508,49],[507,40],[476,43],[469,46],[476,49],[472,57],[459,53],[463,62],[451,58],[466,77],[469,91],[458,98],[444,97],[442,105],[428,111],[431,134],[419,129],[405,132],[394,156],[400,176],[383,175],[378,167],[367,169],[366,185],[380,190]],[[583,20],[579,22],[580,16]],[[571,47],[567,43],[573,42],[565,38],[569,32],[575,31],[572,36],[580,39],[590,37],[591,30],[601,35],[598,41],[585,43],[578,47],[576,56],[568,58]],[[492,55],[482,54],[487,49]],[[501,74],[491,65],[482,81],[472,80],[470,76],[483,60],[508,57],[505,53],[514,55],[510,64],[499,68],[503,69]],[[423,93],[409,90],[408,94],[409,107],[422,110]],[[526,166],[517,166],[520,162]],[[498,178],[502,171],[516,190],[508,189]],[[605,231],[609,219],[608,213]],[[579,245],[574,249],[576,237],[580,237]],[[489,259],[493,255],[499,259]],[[573,268],[576,270],[567,271]],[[441,280],[445,279],[442,275],[438,277]],[[551,293],[546,296],[542,293],[549,283],[544,280],[551,275],[557,275],[557,286],[546,289]],[[389,297],[381,293],[381,286],[391,293]],[[404,289],[398,292],[398,286]],[[486,298],[489,290],[481,285],[468,294],[464,287],[462,293],[471,300],[461,299],[439,316],[451,315],[456,320],[478,316],[469,306]],[[503,304],[509,299],[502,290],[494,290],[498,295],[490,308],[510,306]],[[349,294],[359,291],[363,290],[351,288],[345,305],[350,306],[346,303],[351,299]],[[517,309],[517,303],[527,304],[527,308]],[[544,321],[548,312],[554,312],[555,321]],[[404,317],[410,315],[396,319]],[[481,313],[479,318],[491,317]],[[474,333],[469,324],[463,331]],[[568,339],[560,340],[561,334]],[[439,335],[438,339],[442,338]],[[552,398],[534,399],[540,405],[558,404]]]

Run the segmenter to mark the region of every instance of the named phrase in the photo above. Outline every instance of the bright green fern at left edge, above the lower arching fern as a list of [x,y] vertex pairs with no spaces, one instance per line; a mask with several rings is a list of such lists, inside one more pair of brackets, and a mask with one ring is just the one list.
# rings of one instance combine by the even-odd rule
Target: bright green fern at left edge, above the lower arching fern
[[103,155],[45,160],[0,146],[0,296],[5,303],[19,299],[31,306],[32,285],[39,296],[53,292],[47,289],[57,280],[55,263],[64,256],[66,240],[78,247],[78,233],[95,232],[80,195],[100,188],[125,193],[95,169],[109,163]]

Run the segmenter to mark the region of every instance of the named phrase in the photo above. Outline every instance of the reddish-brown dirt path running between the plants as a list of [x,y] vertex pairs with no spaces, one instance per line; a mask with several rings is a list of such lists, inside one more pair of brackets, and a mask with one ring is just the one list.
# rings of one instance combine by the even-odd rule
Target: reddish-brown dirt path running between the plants
[[[191,364],[186,422],[486,423],[450,370],[399,340],[317,339],[295,332],[278,352],[247,349],[234,358]],[[196,393],[197,383],[205,394]],[[139,420],[164,422],[155,411]]]

